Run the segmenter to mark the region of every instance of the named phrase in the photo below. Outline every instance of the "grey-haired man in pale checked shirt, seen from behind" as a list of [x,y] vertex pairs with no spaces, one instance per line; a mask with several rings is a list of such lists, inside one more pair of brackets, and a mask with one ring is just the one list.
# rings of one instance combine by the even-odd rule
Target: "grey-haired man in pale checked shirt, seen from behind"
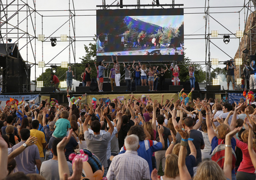
[[126,136],[124,139],[125,153],[113,158],[106,177],[113,179],[151,179],[150,168],[146,160],[138,156],[139,137]]

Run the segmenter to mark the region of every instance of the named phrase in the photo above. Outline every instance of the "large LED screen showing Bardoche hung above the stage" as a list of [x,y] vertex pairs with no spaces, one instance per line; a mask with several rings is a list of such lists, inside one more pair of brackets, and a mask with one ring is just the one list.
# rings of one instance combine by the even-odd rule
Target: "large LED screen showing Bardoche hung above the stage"
[[183,9],[97,10],[97,61],[183,61]]

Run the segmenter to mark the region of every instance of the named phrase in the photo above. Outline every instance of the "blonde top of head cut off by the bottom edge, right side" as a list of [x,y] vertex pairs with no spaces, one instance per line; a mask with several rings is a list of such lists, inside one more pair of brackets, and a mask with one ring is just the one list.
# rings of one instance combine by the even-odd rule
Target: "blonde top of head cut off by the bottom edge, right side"
[[203,161],[197,168],[194,180],[226,180],[223,169],[215,161]]

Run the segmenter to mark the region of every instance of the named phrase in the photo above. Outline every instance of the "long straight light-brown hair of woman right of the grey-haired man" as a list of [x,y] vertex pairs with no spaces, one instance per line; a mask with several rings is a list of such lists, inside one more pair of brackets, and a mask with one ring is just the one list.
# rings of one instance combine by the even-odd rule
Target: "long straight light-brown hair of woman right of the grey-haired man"
[[178,167],[178,156],[169,154],[166,157],[164,175],[169,178],[175,178],[180,174]]

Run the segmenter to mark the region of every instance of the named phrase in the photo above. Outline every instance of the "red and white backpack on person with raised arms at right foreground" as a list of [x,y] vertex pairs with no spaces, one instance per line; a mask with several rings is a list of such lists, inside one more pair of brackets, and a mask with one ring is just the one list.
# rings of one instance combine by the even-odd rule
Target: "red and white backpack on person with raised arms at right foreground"
[[[212,151],[211,160],[215,161],[222,169],[225,160],[225,139],[218,139],[218,146]],[[236,167],[237,156],[232,148],[232,170]]]

